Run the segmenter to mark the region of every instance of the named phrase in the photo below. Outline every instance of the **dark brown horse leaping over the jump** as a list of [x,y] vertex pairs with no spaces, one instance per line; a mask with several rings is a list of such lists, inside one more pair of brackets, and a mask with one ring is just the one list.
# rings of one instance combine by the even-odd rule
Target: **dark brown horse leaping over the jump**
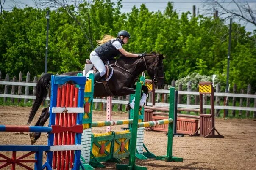
[[[124,96],[129,94],[135,94],[135,83],[138,80],[139,75],[143,71],[147,71],[148,75],[152,79],[152,83],[155,83],[158,89],[164,86],[164,65],[163,65],[163,55],[151,52],[150,54],[145,54],[143,57],[125,57],[121,56],[117,60],[109,61],[113,69],[113,75],[108,80],[103,82],[97,81],[94,84],[94,97],[106,97],[106,96]],[[61,75],[76,76],[81,71],[67,72]],[[36,111],[40,107],[41,103],[47,97],[49,92],[50,96],[50,80],[51,73],[44,74],[41,76],[36,84],[36,99],[33,103],[31,111],[29,113],[28,123],[30,124],[33,120]],[[108,87],[108,89],[105,88]],[[147,94],[147,86],[142,86],[142,91]],[[142,95],[142,94],[141,94]],[[35,126],[43,126],[47,119],[49,118],[49,108],[44,108],[39,120],[36,122]],[[31,144],[35,143],[40,137],[41,133],[35,132],[30,133]]]

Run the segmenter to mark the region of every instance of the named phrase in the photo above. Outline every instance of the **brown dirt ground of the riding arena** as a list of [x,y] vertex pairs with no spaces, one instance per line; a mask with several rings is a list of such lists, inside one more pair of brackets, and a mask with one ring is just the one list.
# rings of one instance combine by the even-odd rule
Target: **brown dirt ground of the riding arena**
[[[0,106],[0,124],[25,125],[30,109],[29,107]],[[39,118],[41,111],[42,108],[37,112],[32,125]],[[127,118],[128,113],[125,112],[112,114],[113,120]],[[106,112],[93,112],[93,121],[105,119]],[[115,126],[113,130],[121,130],[121,127],[127,127],[127,125]],[[256,121],[251,119],[215,119],[215,127],[225,138],[189,137],[186,135],[173,138],[173,156],[183,157],[183,162],[137,159],[136,164],[145,166],[149,170],[255,170]],[[93,132],[106,132],[106,127],[93,128]],[[145,131],[144,143],[155,155],[166,154],[167,136],[165,133]],[[30,139],[28,133],[0,132],[0,144],[30,145]],[[36,144],[46,145],[46,134],[42,134]],[[11,156],[11,153],[6,154]],[[123,163],[127,162],[128,159],[123,160]],[[104,162],[103,164],[109,170],[115,169],[115,163]]]

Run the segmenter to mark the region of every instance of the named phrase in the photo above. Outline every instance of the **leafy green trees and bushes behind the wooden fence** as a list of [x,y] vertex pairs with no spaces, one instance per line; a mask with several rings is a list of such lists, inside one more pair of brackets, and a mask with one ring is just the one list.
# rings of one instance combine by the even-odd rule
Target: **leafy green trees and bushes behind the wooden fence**
[[[157,51],[165,55],[167,84],[204,81],[216,74],[225,84],[228,55],[228,26],[221,19],[189,12],[180,16],[168,3],[164,13],[151,12],[144,4],[121,13],[122,1],[93,0],[78,8],[50,11],[48,72],[82,70],[90,52],[105,34],[116,36],[127,30],[131,40],[124,46],[133,53]],[[67,13],[67,10],[72,13]],[[47,9],[13,8],[0,16],[0,70],[17,76],[20,71],[41,74],[45,63]],[[256,31],[233,23],[229,82],[238,89],[248,83],[256,90]],[[207,75],[207,76],[200,76]],[[177,84],[177,83],[176,83]],[[186,84],[184,84],[186,86]]]

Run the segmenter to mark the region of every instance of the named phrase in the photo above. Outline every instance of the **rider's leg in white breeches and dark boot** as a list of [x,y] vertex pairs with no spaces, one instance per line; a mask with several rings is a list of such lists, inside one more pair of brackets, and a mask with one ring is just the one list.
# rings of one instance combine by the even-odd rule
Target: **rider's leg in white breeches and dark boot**
[[90,54],[90,60],[92,64],[94,64],[94,67],[98,70],[94,74],[94,82],[98,81],[104,74],[106,74],[106,68],[103,63],[103,61],[100,59],[100,57],[95,53],[95,51],[92,51]]

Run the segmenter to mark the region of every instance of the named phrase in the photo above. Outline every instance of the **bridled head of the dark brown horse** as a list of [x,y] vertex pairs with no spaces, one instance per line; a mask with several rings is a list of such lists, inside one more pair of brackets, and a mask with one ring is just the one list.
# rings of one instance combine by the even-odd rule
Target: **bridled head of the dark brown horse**
[[147,63],[147,73],[154,81],[158,89],[164,88],[164,65],[163,55],[152,52],[144,57]]

